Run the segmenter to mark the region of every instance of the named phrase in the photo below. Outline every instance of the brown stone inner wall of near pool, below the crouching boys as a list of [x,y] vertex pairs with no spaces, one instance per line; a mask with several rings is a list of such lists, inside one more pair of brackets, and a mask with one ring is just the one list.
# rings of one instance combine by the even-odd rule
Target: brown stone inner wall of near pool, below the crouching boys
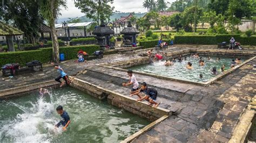
[[91,84],[83,80],[79,80],[78,78],[74,78],[73,82],[70,85],[96,98],[107,98],[107,101],[110,104],[134,113],[136,115],[139,115],[140,117],[147,118],[150,121],[155,121],[164,115],[169,116],[172,113],[167,109],[159,107],[152,108],[151,106],[146,105],[145,102],[137,102],[134,98],[118,94],[117,92],[110,91],[102,87],[98,87],[97,85]]

